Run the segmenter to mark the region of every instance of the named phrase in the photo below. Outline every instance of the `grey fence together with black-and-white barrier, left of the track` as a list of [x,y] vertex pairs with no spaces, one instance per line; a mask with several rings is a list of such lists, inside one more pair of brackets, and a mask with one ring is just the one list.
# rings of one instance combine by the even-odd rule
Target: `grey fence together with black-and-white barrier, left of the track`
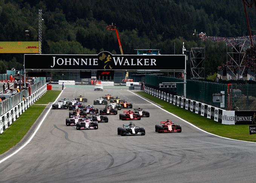
[[[23,90],[12,97],[0,102],[0,133],[3,133],[16,119],[25,112],[35,101],[37,101],[46,91],[45,80],[37,80],[38,83],[31,86],[29,91]],[[23,100],[23,95],[26,97]]]

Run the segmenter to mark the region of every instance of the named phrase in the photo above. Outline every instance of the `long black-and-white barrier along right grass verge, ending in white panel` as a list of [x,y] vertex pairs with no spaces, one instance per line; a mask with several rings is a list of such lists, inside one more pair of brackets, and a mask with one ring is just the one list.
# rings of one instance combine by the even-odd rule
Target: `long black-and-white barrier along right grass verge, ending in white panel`
[[190,100],[188,98],[180,97],[177,95],[168,94],[166,92],[145,86],[144,92],[161,98],[173,105],[190,110],[206,118],[213,119],[222,124],[235,124],[235,111],[227,111],[218,107],[210,106],[198,101]]

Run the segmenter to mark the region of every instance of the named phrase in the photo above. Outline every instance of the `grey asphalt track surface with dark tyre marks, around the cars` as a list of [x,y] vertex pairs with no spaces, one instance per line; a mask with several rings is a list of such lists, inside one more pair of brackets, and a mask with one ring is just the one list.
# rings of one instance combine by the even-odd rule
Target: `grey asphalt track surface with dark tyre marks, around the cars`
[[[150,112],[134,121],[145,127],[145,136],[117,135],[126,123],[119,114],[99,123],[98,130],[76,130],[65,124],[68,110],[51,110],[32,141],[0,164],[0,182],[255,182],[256,144],[204,133],[126,89],[67,86],[60,98],[86,94],[87,104],[93,104],[111,93],[127,99]],[[181,124],[182,133],[156,133],[155,124],[166,119]]]

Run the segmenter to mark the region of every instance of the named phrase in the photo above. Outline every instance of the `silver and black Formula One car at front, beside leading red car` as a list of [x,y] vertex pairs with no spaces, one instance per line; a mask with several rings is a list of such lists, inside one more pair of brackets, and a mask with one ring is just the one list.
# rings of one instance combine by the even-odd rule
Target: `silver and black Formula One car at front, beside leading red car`
[[117,128],[117,135],[126,136],[126,135],[145,135],[145,128],[136,126],[135,124],[123,124],[123,127]]

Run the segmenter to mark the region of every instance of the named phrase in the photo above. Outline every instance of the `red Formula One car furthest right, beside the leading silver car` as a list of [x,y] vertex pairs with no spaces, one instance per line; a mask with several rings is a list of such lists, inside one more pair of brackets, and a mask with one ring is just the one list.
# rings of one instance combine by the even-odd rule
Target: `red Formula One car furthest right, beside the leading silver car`
[[174,124],[172,121],[167,119],[166,121],[161,121],[160,125],[155,125],[155,132],[162,133],[162,132],[181,132],[181,125]]

